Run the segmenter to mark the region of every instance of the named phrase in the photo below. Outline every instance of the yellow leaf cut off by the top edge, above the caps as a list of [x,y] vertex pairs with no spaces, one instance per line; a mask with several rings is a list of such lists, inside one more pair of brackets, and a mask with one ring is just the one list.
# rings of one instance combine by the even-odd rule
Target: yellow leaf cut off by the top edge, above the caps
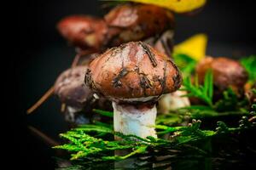
[[176,13],[186,13],[201,8],[207,0],[125,0],[135,3],[148,3],[168,8]]

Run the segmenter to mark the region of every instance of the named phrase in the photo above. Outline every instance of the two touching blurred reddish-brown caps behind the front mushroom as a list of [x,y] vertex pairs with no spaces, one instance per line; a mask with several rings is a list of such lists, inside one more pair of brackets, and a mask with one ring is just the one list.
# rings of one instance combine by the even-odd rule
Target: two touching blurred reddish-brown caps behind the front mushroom
[[[109,11],[103,19],[87,15],[73,15],[58,23],[58,31],[79,49],[87,54],[99,53],[106,48],[119,46],[124,42],[158,38],[165,31],[172,31],[174,17],[165,8],[148,4],[122,4]],[[159,43],[172,42],[172,35],[167,33],[156,47],[172,47]],[[166,41],[168,39],[168,41]],[[170,52],[167,52],[170,54]]]

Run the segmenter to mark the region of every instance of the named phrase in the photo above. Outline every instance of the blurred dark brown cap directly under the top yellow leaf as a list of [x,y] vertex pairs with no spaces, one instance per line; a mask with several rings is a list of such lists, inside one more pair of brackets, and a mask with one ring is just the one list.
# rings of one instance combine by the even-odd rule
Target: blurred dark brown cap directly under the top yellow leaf
[[119,5],[104,18],[110,32],[116,34],[112,39],[113,45],[143,40],[172,29],[174,25],[172,13],[165,8],[148,4]]

